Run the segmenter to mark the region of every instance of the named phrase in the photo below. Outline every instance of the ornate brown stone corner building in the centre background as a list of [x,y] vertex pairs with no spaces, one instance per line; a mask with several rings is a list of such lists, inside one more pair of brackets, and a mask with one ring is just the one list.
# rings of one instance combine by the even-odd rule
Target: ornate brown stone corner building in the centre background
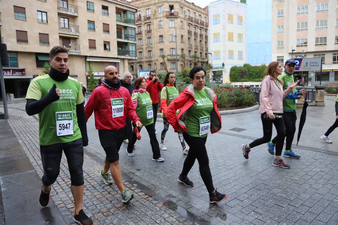
[[[193,67],[194,54],[198,56],[198,65],[204,67],[207,64],[207,9],[185,0],[135,0],[131,4],[137,6],[138,10],[137,61],[129,60],[130,71],[156,70],[164,73],[165,65],[168,71],[180,71],[180,54],[186,55],[183,59],[186,67]],[[161,55],[166,55],[165,64]]]

